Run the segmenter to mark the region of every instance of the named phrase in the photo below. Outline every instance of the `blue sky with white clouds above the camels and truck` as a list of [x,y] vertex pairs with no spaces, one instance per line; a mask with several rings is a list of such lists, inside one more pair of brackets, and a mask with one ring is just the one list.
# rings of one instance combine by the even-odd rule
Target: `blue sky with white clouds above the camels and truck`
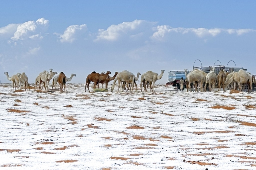
[[[92,71],[136,75],[234,60],[256,74],[256,1],[5,1],[0,80],[43,70],[84,83]],[[215,65],[220,65],[216,62]],[[195,66],[201,66],[196,61]],[[233,62],[228,67],[235,67]]]

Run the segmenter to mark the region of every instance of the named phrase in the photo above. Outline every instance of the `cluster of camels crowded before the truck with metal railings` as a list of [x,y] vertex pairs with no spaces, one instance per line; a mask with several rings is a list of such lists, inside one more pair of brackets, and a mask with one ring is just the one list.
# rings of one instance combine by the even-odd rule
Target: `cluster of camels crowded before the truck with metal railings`
[[[215,84],[217,83],[219,86],[218,91],[220,91],[221,86],[223,90],[227,88],[229,85],[231,85],[230,89],[236,89],[236,83],[238,84],[239,91],[242,91],[242,83],[248,83],[248,93],[252,92],[252,76],[250,73],[245,72],[244,70],[239,70],[238,72],[232,72],[228,73],[225,72],[223,69],[220,70],[219,74],[216,75],[214,73],[214,67],[212,67],[210,73],[205,73],[202,70],[194,69],[190,73],[187,74],[187,69],[185,69],[185,75],[186,75],[186,81],[187,81],[187,92],[188,89],[190,89],[191,92],[191,86],[190,83],[194,82],[194,87],[197,87],[197,83],[199,86],[200,83],[200,89],[204,88],[204,91],[206,91],[206,85],[209,84],[209,90],[212,91],[214,89]],[[203,87],[203,84],[205,82],[205,86]],[[194,89],[193,87],[193,89]],[[196,88],[197,91],[197,88]]]

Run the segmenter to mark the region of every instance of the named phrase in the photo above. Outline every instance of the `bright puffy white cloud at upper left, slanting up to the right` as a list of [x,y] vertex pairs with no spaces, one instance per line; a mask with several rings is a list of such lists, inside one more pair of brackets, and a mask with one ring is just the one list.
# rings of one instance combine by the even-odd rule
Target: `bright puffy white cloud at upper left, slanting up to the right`
[[36,22],[27,21],[17,27],[17,30],[11,39],[17,41],[19,39],[24,40],[30,38],[33,34],[36,35],[36,33],[45,31],[48,26],[49,21],[44,18],[39,18]]

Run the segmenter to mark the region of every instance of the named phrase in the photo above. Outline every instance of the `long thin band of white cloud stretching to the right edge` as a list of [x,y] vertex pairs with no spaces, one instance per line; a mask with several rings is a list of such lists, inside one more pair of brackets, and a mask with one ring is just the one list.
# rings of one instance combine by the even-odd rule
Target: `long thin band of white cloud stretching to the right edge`
[[249,32],[256,32],[256,30],[253,30],[253,29],[222,29],[222,28],[207,29],[207,28],[181,28],[181,27],[172,28],[168,25],[158,25],[157,27],[153,28],[153,30],[155,30],[156,32],[153,33],[151,38],[159,41],[164,41],[165,35],[170,32],[177,32],[182,34],[192,32],[192,33],[195,33],[200,38],[203,38],[205,36],[215,37],[221,32],[228,32],[229,34],[236,33],[237,35],[242,35],[244,33],[249,33]]

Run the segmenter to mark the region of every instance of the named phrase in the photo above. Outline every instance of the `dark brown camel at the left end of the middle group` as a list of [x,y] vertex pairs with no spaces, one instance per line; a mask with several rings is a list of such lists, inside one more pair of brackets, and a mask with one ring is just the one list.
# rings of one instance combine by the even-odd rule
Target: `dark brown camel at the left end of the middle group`
[[[105,80],[106,77],[108,76],[108,74],[111,74],[111,72],[107,71],[106,74],[100,75],[99,73],[96,73],[95,71],[93,71],[91,74],[88,74],[87,77],[86,77],[86,83],[85,83],[85,90],[84,90],[84,92],[86,92],[86,86],[87,86],[87,89],[89,90],[89,84],[91,83],[91,81],[93,82],[93,89],[95,89],[96,85],[101,80]],[[90,92],[90,90],[89,90],[89,92]]]

